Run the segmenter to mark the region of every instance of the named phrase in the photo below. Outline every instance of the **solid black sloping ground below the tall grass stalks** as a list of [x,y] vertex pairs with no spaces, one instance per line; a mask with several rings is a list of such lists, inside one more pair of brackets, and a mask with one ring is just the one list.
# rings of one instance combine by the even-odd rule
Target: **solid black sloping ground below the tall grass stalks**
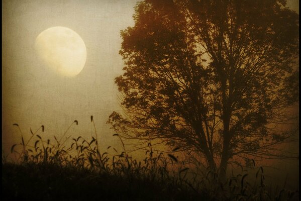
[[208,200],[192,189],[55,164],[2,165],[2,200]]

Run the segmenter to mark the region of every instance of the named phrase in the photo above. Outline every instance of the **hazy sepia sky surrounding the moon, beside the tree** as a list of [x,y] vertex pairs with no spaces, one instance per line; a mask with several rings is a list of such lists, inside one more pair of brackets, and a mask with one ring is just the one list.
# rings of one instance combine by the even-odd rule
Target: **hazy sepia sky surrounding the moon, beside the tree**
[[[134,25],[136,0],[17,1],[2,3],[2,144],[4,151],[21,140],[30,128],[45,126],[46,138],[68,134],[89,138],[94,116],[100,145],[118,145],[106,124],[113,111],[120,111],[114,78],[122,73],[118,51],[120,30]],[[288,1],[297,13],[298,0]],[[37,36],[50,27],[75,31],[86,46],[86,62],[75,77],[53,73],[38,58]],[[42,136],[43,137],[43,136]],[[26,137],[25,137],[26,138]]]

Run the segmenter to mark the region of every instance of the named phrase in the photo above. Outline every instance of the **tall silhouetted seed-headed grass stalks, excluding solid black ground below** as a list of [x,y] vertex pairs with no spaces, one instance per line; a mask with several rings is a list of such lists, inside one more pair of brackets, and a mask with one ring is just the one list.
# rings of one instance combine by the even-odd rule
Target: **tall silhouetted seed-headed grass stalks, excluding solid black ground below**
[[[155,192],[152,191],[151,196],[156,194],[156,200],[163,199],[163,197],[170,200],[299,199],[298,191],[291,191],[285,188],[272,190],[271,187],[267,186],[263,168],[255,167],[254,160],[255,175],[242,171],[238,175],[232,174],[223,182],[219,178],[217,171],[208,169],[202,176],[185,167],[185,164],[178,161],[177,157],[172,153],[165,156],[162,152],[153,151],[150,143],[148,144],[149,149],[145,152],[145,159],[138,161],[128,155],[123,140],[118,134],[113,136],[119,138],[123,145],[123,151],[119,152],[114,147],[109,146],[107,151],[101,152],[98,147],[99,136],[97,136],[93,117],[91,116],[90,119],[94,126],[94,135],[90,139],[85,139],[82,136],[77,138],[65,137],[72,126],[78,125],[77,120],[72,122],[60,139],[54,136],[52,140],[44,140],[39,135],[39,132],[44,132],[45,129],[44,126],[41,126],[35,132],[30,130],[31,137],[28,141],[25,141],[19,125],[14,124],[21,134],[21,143],[15,144],[11,148],[11,154],[16,161],[15,165],[24,168],[35,166],[37,169],[53,167],[55,170],[51,169],[51,171],[61,169],[69,172],[64,172],[65,177],[72,177],[72,174],[74,176],[78,172],[84,172],[86,175],[90,175],[88,181],[91,183],[96,182],[97,179],[98,181],[99,179],[104,179],[104,175],[106,175],[106,178],[122,179],[122,181],[126,181],[127,185],[129,183],[148,183],[154,186]],[[70,143],[69,146],[66,145],[67,141]],[[14,165],[8,162],[8,157],[4,153],[2,164],[3,167],[12,167]],[[177,171],[172,171],[172,169],[175,169],[174,167],[177,167]],[[99,177],[100,175],[102,177]],[[110,186],[110,180],[108,180],[108,186]],[[9,183],[8,181],[4,183],[3,177],[3,184]],[[120,185],[116,186],[119,190],[123,188]],[[141,186],[143,185],[138,185],[134,191]],[[112,185],[111,188],[113,188]],[[147,188],[145,190],[150,191]],[[125,194],[127,192],[123,191]],[[147,196],[147,194],[144,195]],[[113,200],[113,198],[110,200]],[[145,199],[151,200],[147,199],[147,197]]]

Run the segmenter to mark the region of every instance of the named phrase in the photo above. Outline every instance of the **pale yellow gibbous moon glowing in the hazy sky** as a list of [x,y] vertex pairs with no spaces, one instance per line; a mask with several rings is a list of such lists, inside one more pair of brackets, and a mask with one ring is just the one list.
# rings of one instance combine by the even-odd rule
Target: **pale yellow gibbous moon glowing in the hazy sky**
[[87,53],[83,40],[66,27],[51,27],[40,33],[35,48],[42,61],[63,76],[76,76],[86,62]]

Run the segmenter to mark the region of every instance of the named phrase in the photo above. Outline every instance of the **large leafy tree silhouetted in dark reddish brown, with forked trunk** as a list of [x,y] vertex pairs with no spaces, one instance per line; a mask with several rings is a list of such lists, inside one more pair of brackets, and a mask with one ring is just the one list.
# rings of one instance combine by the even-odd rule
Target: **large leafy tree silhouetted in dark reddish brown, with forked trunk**
[[220,170],[234,156],[284,156],[273,149],[292,134],[275,125],[298,100],[298,15],[284,0],[145,0],[135,12],[121,32],[117,132]]

